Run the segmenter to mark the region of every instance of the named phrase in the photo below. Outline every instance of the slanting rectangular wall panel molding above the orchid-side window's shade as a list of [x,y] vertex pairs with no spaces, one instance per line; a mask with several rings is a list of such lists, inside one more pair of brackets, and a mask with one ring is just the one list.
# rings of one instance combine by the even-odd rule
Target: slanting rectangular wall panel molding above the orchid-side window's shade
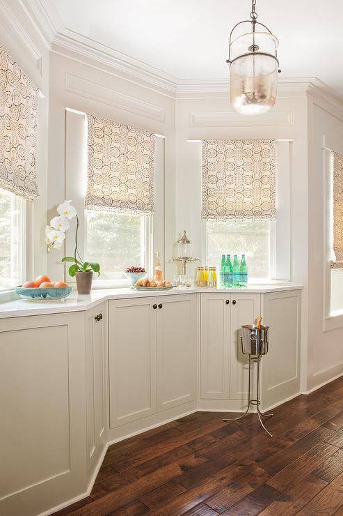
[[119,91],[107,88],[101,84],[91,82],[88,79],[76,75],[65,74],[65,91],[82,97],[96,100],[99,103],[111,105],[118,109],[124,109],[139,116],[164,123],[165,112],[163,107],[150,104]]

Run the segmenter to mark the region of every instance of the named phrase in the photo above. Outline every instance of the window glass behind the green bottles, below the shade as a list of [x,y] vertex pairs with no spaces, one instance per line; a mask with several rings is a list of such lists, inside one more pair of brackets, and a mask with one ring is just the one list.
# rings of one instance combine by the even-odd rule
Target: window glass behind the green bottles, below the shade
[[208,265],[216,265],[219,270],[223,253],[245,253],[249,279],[270,277],[270,220],[213,220],[206,225]]

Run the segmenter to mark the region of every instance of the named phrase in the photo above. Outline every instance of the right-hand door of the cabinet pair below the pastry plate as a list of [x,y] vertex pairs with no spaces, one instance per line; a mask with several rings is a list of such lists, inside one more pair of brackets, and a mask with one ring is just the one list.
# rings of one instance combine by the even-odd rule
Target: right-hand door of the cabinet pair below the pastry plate
[[196,397],[197,297],[160,296],[157,305],[157,409],[165,410]]

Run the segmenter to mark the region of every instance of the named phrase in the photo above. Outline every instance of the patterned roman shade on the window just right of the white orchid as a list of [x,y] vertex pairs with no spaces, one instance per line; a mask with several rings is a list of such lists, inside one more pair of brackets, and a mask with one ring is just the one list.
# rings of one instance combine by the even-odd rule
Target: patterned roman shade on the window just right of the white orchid
[[88,115],[87,210],[154,212],[152,132]]

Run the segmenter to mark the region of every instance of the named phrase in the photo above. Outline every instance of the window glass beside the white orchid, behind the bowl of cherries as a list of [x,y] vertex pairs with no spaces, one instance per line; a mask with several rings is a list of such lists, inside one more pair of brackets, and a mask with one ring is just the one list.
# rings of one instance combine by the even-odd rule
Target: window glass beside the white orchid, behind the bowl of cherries
[[115,280],[130,265],[145,266],[144,217],[86,211],[87,261],[98,261],[99,280]]

